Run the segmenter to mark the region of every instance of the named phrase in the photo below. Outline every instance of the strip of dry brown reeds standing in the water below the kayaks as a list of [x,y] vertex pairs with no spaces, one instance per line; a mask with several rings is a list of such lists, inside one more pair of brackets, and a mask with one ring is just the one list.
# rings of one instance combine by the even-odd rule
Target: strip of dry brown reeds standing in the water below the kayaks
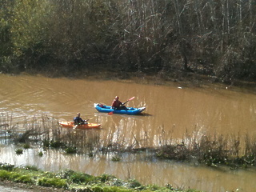
[[[0,133],[3,140],[16,143],[37,142],[43,147],[54,147],[66,153],[89,154],[124,153],[150,150],[155,157],[177,161],[198,162],[208,166],[219,164],[238,167],[256,166],[256,137],[249,133],[223,135],[202,131],[197,127],[186,131],[182,138],[174,138],[172,131],[158,127],[158,135],[148,137],[146,132],[133,134],[132,144],[127,144],[122,130],[108,132],[101,138],[101,130],[73,130],[58,125],[58,120],[46,115],[24,118],[13,123],[11,114],[0,115]],[[154,142],[150,140],[154,140]],[[154,146],[148,146],[154,143]],[[116,156],[118,157],[118,156]]]

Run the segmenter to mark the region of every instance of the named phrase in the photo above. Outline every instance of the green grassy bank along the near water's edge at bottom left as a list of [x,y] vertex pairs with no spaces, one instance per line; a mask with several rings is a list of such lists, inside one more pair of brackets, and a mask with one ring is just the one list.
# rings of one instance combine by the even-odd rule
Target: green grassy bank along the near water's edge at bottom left
[[[130,191],[198,191],[176,189],[171,185],[165,187],[148,185],[142,186],[132,179],[123,181],[112,175],[102,174],[93,176],[74,172],[73,170],[60,170],[58,173],[43,172],[35,166],[15,167],[14,165],[0,163],[0,179],[15,183],[23,183],[23,188],[36,186],[54,188],[54,191],[95,191],[95,192],[130,192]],[[36,188],[38,190],[38,188]],[[58,189],[58,190],[56,190]]]

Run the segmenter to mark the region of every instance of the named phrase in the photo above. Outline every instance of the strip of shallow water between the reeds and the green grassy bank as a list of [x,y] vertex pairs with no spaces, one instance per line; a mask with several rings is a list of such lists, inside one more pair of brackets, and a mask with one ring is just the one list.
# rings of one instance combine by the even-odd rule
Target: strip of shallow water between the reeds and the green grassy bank
[[68,155],[59,150],[42,149],[24,150],[23,154],[14,152],[15,146],[1,146],[0,162],[15,165],[34,165],[42,170],[56,171],[63,169],[76,170],[87,174],[114,174],[118,178],[136,178],[142,184],[167,183],[174,186],[186,186],[205,191],[254,191],[256,183],[255,171],[230,170],[225,167],[209,168],[187,165],[185,163],[158,161],[146,158],[146,153],[122,154],[120,162],[111,161],[112,155],[97,154],[93,158],[88,155]]

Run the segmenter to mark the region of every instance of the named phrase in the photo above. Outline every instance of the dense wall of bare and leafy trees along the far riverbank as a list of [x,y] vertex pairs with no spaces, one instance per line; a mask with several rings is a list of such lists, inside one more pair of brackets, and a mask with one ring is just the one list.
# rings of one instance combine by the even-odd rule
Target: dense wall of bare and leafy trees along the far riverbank
[[4,73],[256,77],[253,1],[2,0],[0,7]]

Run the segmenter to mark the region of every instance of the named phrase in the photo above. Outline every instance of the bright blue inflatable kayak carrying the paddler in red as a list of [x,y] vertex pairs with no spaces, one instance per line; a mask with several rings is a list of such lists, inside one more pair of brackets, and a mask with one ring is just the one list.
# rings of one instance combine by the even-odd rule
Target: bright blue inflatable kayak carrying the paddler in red
[[111,108],[111,106],[105,106],[99,103],[94,103],[94,107],[96,110],[98,110],[98,112],[110,114],[140,114],[142,111],[146,110],[146,107],[127,107],[127,110],[114,110]]

